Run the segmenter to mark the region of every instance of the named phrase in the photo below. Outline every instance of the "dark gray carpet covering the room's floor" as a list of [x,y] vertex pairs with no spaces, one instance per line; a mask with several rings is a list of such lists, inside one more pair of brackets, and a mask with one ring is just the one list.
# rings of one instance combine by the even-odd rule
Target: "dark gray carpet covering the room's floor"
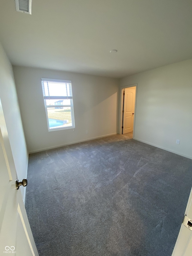
[[39,255],[171,256],[192,160],[115,135],[29,156]]

